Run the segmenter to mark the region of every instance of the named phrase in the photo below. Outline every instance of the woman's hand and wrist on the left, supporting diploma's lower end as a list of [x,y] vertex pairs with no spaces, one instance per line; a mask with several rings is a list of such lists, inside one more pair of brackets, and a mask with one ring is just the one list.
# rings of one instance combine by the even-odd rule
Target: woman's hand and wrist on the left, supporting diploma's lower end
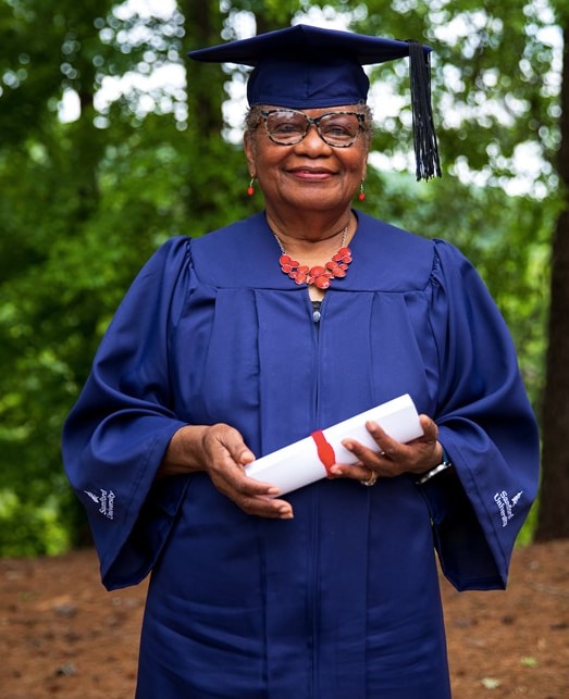
[[255,454],[234,427],[185,425],[172,437],[157,477],[206,471],[215,488],[247,514],[292,519],[293,508],[274,497],[275,486],[247,476],[245,466],[251,461]]

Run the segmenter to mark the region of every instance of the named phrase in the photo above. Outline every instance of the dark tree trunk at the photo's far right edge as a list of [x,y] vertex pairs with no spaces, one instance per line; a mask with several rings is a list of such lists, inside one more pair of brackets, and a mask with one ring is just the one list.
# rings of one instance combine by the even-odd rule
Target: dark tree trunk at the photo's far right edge
[[537,541],[569,538],[569,27],[564,30],[560,129],[558,172],[566,205],[557,220],[552,247]]

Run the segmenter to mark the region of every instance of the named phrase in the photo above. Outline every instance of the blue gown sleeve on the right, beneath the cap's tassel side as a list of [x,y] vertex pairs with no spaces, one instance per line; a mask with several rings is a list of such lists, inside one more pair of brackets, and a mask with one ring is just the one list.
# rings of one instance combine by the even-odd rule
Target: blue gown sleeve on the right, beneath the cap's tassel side
[[[432,332],[438,350],[438,438],[454,464],[421,486],[445,576],[503,589],[539,486],[540,440],[514,344],[471,263],[436,241]],[[458,477],[457,477],[458,476]]]

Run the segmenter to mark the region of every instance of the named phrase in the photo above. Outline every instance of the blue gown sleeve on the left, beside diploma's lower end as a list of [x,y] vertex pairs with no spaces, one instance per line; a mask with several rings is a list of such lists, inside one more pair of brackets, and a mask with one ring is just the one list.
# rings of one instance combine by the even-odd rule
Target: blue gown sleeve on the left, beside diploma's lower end
[[64,425],[63,463],[84,504],[108,589],[152,567],[187,487],[156,480],[174,433],[169,329],[187,288],[189,239],[166,242],[124,297]]

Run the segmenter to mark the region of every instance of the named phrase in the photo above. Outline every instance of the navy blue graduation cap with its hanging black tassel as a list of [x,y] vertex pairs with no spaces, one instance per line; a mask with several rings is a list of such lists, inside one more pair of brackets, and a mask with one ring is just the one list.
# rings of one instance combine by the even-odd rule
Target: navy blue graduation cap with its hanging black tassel
[[409,57],[417,179],[441,176],[431,104],[431,48],[416,41],[297,24],[249,39],[190,51],[196,61],[253,67],[247,83],[249,105],[289,109],[344,107],[366,102],[363,65]]

